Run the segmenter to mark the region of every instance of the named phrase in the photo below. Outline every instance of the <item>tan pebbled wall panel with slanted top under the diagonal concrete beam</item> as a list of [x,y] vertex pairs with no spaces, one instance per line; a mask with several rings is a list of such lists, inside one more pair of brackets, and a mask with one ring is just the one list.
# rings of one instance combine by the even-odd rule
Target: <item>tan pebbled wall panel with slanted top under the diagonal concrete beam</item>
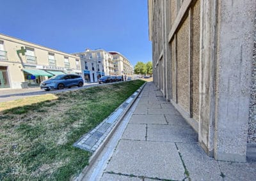
[[186,18],[177,33],[178,104],[189,112],[189,20]]

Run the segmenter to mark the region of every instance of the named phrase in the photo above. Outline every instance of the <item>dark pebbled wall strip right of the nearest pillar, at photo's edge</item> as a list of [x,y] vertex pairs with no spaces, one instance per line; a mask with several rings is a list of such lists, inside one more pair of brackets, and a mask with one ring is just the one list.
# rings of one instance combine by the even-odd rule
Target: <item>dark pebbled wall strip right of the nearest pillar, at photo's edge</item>
[[248,129],[248,143],[256,144],[256,16],[254,20],[254,46],[252,59],[252,87],[250,96],[250,116]]

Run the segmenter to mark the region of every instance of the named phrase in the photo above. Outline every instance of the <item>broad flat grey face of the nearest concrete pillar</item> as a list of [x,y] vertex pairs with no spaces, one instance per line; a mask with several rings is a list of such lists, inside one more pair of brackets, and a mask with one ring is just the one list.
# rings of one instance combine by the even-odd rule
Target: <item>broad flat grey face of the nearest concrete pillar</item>
[[221,1],[214,156],[246,161],[256,1]]

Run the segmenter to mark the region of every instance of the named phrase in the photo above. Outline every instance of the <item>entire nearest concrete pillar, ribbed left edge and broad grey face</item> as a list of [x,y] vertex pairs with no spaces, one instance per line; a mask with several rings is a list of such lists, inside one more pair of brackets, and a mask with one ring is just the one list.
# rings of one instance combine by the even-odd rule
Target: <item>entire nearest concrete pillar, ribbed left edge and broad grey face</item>
[[202,0],[198,139],[209,156],[246,161],[256,0]]

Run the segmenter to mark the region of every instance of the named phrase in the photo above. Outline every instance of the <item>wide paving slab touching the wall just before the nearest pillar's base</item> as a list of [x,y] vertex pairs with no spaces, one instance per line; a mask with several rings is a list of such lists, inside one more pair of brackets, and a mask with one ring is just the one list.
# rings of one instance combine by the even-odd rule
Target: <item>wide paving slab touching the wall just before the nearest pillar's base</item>
[[192,127],[185,128],[179,125],[148,124],[147,140],[197,143],[198,134],[195,133]]

